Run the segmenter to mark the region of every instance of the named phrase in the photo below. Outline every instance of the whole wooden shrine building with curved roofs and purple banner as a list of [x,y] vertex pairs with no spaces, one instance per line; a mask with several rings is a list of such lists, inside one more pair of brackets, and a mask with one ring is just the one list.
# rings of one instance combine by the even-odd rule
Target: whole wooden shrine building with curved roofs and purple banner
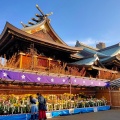
[[7,22],[0,34],[0,93],[84,92],[111,102],[110,90],[120,87],[120,43],[98,49],[77,41],[71,47],[52,28],[52,13],[36,8],[32,22],[21,23],[22,29]]

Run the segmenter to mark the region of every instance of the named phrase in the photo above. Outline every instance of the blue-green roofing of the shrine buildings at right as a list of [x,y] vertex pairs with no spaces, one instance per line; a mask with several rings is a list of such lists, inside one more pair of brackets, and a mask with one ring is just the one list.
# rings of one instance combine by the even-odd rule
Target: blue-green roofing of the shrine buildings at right
[[[77,45],[79,47],[82,47],[83,50],[78,53],[79,56],[83,56],[83,59],[76,62],[76,64],[79,65],[89,65],[92,63],[92,61],[95,60],[94,57],[92,57],[94,54],[96,54],[99,57],[99,61],[104,63],[106,61],[111,61],[113,59],[117,59],[115,56],[120,54],[120,43],[106,47],[101,50],[93,49],[89,46],[85,46],[84,44],[77,41]],[[77,46],[77,47],[78,47]],[[117,59],[119,60],[119,59]]]

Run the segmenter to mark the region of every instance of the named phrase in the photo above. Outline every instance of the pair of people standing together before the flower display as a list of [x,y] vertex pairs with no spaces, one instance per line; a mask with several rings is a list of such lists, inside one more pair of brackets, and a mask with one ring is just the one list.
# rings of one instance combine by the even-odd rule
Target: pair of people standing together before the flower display
[[[38,100],[38,105],[37,105]],[[46,100],[45,98],[37,93],[37,99],[34,98],[32,95],[30,96],[30,104],[31,104],[31,118],[30,120],[46,120]]]

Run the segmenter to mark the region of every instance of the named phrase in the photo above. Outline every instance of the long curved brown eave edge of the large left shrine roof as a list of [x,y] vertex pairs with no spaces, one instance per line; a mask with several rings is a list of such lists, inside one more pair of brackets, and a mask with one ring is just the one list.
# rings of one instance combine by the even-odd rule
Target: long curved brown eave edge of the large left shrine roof
[[[4,28],[4,31],[2,32],[0,40],[2,40],[2,37],[4,36],[5,33],[8,34],[7,29],[9,30],[9,33],[14,35],[14,36],[21,37],[21,38],[27,39],[27,40],[32,41],[32,42],[46,44],[47,46],[51,46],[51,47],[54,47],[57,49],[65,50],[65,51],[68,51],[70,53],[77,53],[77,52],[82,50],[82,48],[61,45],[59,43],[53,43],[53,42],[48,41],[46,39],[42,39],[42,38],[39,38],[37,36],[33,36],[29,33],[26,33],[26,32],[24,32],[16,27],[14,27],[13,25],[11,25],[8,22],[6,23],[6,26]],[[2,47],[2,44],[1,44],[1,47]]]

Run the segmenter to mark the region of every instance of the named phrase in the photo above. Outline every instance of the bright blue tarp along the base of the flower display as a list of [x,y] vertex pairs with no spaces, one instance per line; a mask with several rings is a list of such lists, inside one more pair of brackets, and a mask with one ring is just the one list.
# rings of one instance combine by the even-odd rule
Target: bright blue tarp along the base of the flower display
[[[78,114],[78,113],[88,113],[88,112],[94,112],[94,108],[97,109],[97,111],[104,111],[109,110],[110,106],[98,106],[98,107],[86,107],[86,108],[74,108],[72,114]],[[70,109],[66,110],[56,110],[50,112],[52,118],[57,116],[64,116],[64,115],[70,115]],[[0,116],[0,120],[29,120],[30,114],[16,114],[16,115],[4,115]]]

